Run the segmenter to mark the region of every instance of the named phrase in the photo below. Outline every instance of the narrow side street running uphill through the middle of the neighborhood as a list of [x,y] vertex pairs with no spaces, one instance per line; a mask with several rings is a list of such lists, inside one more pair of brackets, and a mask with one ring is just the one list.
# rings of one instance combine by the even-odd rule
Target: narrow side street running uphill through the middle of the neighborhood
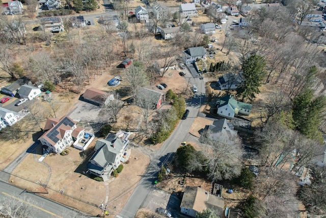
[[198,92],[194,97],[187,102],[186,108],[189,110],[187,119],[181,120],[171,136],[162,144],[161,148],[156,152],[155,157],[150,162],[143,178],[134,189],[129,200],[125,204],[122,211],[116,216],[118,218],[134,217],[140,206],[148,195],[151,195],[151,190],[155,189],[154,181],[157,178],[157,173],[160,170],[161,164],[170,161],[176,150],[179,148],[182,141],[187,141],[187,133],[194,122],[199,112],[199,107],[204,100],[205,85],[203,80],[192,78],[192,84],[196,84]]

